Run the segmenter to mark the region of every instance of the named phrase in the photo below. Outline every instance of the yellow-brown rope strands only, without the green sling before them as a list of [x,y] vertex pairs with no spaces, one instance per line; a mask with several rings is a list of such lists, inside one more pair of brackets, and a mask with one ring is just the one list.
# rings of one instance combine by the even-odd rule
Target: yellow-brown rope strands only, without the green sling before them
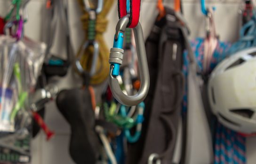
[[[87,31],[89,15],[87,11],[85,11],[83,0],[78,0],[78,2],[84,13],[81,16],[82,26],[83,26],[83,29]],[[104,82],[109,75],[109,68],[110,68],[108,63],[109,49],[104,42],[103,33],[105,32],[108,24],[106,15],[109,12],[110,8],[112,7],[112,4],[113,4],[113,0],[104,0],[104,7],[102,9],[102,12],[99,13],[99,15],[97,15],[95,40],[99,44],[99,57],[97,60],[96,74],[91,77],[91,81],[90,81],[91,84],[99,84],[101,82]],[[86,35],[84,43],[87,41],[87,39],[88,38]],[[82,45],[84,45],[84,43]],[[94,48],[93,46],[88,46],[88,48],[83,49],[82,45],[80,46],[80,50],[78,52],[78,54],[80,54],[80,52],[83,51],[80,64],[85,71],[90,71]]]

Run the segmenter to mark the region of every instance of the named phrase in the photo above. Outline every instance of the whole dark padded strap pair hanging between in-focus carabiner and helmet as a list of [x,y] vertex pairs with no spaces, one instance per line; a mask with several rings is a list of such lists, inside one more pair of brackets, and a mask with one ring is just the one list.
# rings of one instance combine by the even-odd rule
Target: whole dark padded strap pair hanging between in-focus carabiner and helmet
[[166,8],[166,13],[155,23],[146,42],[151,85],[145,99],[142,135],[138,143],[128,147],[128,152],[135,151],[128,153],[128,164],[146,164],[152,153],[160,155],[161,164],[172,163],[184,94],[185,43],[174,11]]

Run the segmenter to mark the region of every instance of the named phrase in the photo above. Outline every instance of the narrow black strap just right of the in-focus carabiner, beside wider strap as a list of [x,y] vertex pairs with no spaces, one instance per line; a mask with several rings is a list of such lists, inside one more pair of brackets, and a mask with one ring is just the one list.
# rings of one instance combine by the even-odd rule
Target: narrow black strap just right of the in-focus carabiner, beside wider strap
[[149,119],[151,116],[151,106],[152,99],[154,98],[155,86],[156,86],[156,77],[158,75],[158,59],[159,59],[159,42],[160,42],[160,34],[162,31],[162,26],[164,25],[164,20],[160,20],[155,22],[152,31],[149,37],[146,40],[146,54],[149,65],[149,75],[150,75],[150,87],[148,91],[148,95],[144,100],[145,110],[144,110],[144,121],[141,131],[141,136],[139,140],[135,143],[128,143],[128,155],[127,155],[127,164],[138,164],[140,160],[143,149],[144,142],[147,135],[147,129],[149,126]]

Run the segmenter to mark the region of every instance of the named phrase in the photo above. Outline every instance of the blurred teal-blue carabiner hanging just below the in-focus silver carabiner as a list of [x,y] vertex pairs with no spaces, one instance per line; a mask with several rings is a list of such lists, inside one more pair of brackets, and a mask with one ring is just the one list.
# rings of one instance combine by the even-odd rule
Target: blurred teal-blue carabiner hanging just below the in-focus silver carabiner
[[[125,133],[125,136],[127,138],[127,141],[130,142],[130,143],[134,143],[134,142],[137,142],[139,140],[140,135],[141,135],[142,122],[144,121],[144,117],[143,117],[143,113],[144,113],[144,109],[145,109],[144,102],[141,102],[140,104],[138,104],[137,108],[138,108],[138,115],[137,115],[137,118],[136,118],[136,124],[137,125],[136,125],[135,134],[132,136],[129,129],[124,129],[124,133]],[[123,117],[127,116],[125,105],[121,105],[120,113]]]

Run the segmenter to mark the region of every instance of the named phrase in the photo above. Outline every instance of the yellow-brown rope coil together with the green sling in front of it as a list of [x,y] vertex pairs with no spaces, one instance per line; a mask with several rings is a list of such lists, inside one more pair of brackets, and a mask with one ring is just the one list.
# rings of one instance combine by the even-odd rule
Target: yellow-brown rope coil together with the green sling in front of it
[[[88,11],[88,7],[85,6],[86,4],[83,0],[78,0],[78,2],[84,13],[81,16],[82,27],[83,30],[87,32],[85,35],[85,40],[80,46],[77,57],[80,59],[80,65],[82,66],[82,68],[85,71],[90,72],[90,83],[100,84],[106,80],[109,74],[109,50],[104,42],[103,33],[106,31],[106,27],[108,24],[106,15],[112,6],[113,0],[104,0],[104,5],[101,12],[97,13],[97,10],[95,10],[95,19],[90,16],[92,13],[90,11],[93,11],[94,9]],[[100,0],[98,3],[100,3]],[[93,5],[90,4],[90,6]],[[88,43],[88,41],[96,41],[96,43],[98,44],[98,48],[95,46],[95,44]],[[95,51],[97,50],[98,58],[95,59]],[[92,71],[93,67],[95,67],[95,70]]]

